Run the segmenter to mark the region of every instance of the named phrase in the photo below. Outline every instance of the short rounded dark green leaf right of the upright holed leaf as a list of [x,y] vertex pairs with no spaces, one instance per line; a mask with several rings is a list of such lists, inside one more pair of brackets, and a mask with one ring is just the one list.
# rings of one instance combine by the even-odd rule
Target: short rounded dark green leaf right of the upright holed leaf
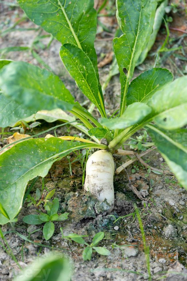
[[133,102],[147,102],[165,84],[173,81],[168,69],[153,68],[141,73],[130,83],[127,92],[127,106]]

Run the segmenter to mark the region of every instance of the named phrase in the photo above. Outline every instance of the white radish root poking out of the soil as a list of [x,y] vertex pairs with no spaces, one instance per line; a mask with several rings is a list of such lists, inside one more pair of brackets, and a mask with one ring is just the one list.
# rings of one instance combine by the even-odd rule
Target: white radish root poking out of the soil
[[114,171],[114,160],[107,150],[98,150],[87,160],[84,190],[96,196],[99,201],[106,198],[111,209],[114,207]]

